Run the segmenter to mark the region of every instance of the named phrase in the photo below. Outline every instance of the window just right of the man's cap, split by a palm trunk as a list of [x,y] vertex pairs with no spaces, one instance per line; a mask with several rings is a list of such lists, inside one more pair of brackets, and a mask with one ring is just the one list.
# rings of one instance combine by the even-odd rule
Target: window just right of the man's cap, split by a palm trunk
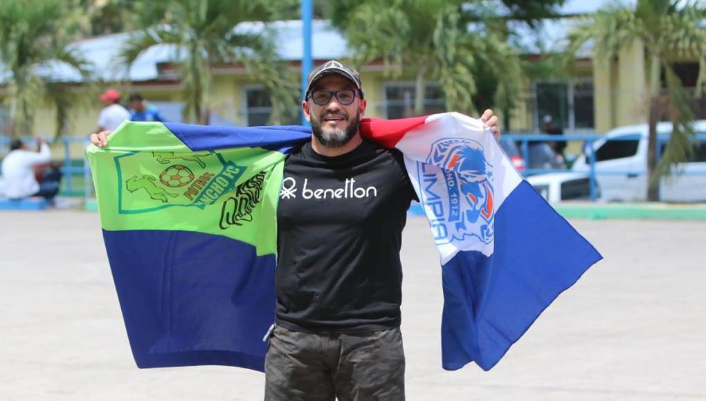
[[[383,116],[385,118],[405,118],[414,116],[414,97],[417,90],[414,82],[388,82],[385,84]],[[424,113],[433,114],[445,111],[443,94],[435,83],[426,83],[424,91]]]

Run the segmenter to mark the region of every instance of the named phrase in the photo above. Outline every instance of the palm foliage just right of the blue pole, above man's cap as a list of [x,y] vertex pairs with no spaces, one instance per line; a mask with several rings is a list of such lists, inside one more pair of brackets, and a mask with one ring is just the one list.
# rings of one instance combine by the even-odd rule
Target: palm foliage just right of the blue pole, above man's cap
[[[491,63],[498,73],[517,77],[519,58],[491,30],[469,32],[462,23],[461,0],[369,0],[343,4],[347,18],[333,22],[354,50],[354,63],[382,59],[394,75],[414,74],[414,113],[424,113],[425,83],[436,81],[445,106],[474,112],[479,63]],[[340,15],[341,10],[332,11]],[[507,91],[518,80],[501,85]]]

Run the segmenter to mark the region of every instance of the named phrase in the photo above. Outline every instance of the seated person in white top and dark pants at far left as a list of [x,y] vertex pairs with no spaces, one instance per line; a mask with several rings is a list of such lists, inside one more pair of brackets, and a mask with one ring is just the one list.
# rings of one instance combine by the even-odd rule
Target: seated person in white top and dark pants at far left
[[2,161],[1,172],[3,189],[9,199],[23,199],[25,197],[44,197],[53,199],[59,193],[61,172],[58,170],[44,174],[41,182],[37,182],[34,166],[48,163],[52,158],[49,145],[37,139],[39,149],[33,152],[27,149],[22,140],[10,142],[10,153]]

